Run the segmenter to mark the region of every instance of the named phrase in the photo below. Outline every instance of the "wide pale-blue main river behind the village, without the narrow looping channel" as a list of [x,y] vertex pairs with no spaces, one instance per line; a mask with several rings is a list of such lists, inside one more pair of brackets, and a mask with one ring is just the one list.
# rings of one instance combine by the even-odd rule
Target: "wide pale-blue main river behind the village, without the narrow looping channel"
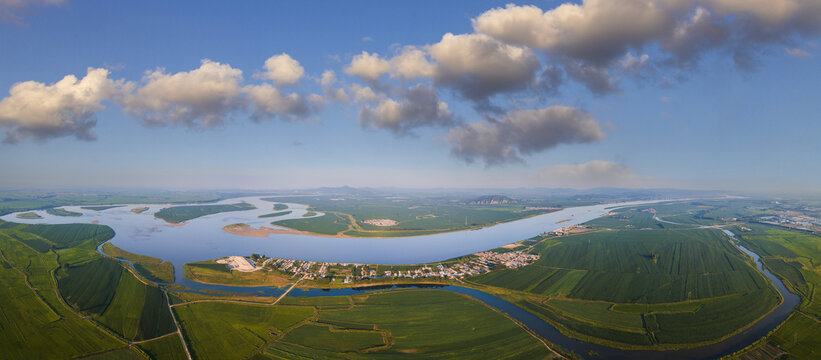
[[[360,263],[360,264],[418,264],[446,260],[501,245],[524,240],[542,232],[563,226],[581,224],[598,218],[608,209],[656,201],[637,201],[567,208],[556,212],[511,221],[477,230],[457,231],[436,235],[396,238],[334,238],[300,234],[271,234],[268,237],[248,237],[229,234],[225,225],[245,223],[253,227],[272,226],[272,221],[302,218],[306,205],[287,204],[292,213],[276,218],[258,218],[275,212],[272,202],[262,197],[243,197],[222,200],[216,204],[246,202],[253,210],[224,212],[198,217],[183,225],[170,225],[155,218],[154,213],[169,204],[124,205],[103,211],[64,206],[63,209],[82,216],[55,216],[45,210],[33,211],[42,219],[20,219],[18,213],[0,219],[26,224],[66,224],[98,222],[108,225],[116,235],[111,243],[137,254],[171,261],[176,268],[177,281],[182,280],[182,264],[216,259],[230,255],[264,254],[269,257],[306,261]],[[131,209],[148,207],[135,214]],[[318,214],[317,216],[321,216]]]

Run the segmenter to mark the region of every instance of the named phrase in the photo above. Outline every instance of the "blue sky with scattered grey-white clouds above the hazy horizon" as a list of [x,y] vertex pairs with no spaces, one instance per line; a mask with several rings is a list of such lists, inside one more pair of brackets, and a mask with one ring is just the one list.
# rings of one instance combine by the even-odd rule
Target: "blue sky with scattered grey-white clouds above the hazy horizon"
[[[817,4],[648,0],[662,10],[628,23],[606,16],[639,10],[605,3],[0,2],[0,187],[821,191]],[[408,46],[422,60],[390,62]],[[379,61],[352,70],[363,51]],[[288,76],[265,67],[281,54],[296,80],[287,61],[274,68]],[[241,71],[233,92],[173,82],[204,59]],[[107,70],[91,99],[51,91],[89,68]],[[39,84],[10,93],[26,81]],[[354,100],[365,87],[374,97]],[[253,97],[271,89],[298,100]]]

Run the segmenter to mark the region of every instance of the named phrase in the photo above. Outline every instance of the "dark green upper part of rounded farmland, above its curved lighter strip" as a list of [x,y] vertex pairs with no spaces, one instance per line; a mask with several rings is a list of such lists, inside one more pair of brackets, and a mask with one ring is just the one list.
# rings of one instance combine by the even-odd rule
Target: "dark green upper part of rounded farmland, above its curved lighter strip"
[[679,302],[768,287],[726,236],[712,229],[594,232],[552,239],[535,250],[541,258],[534,265],[470,281],[619,303]]

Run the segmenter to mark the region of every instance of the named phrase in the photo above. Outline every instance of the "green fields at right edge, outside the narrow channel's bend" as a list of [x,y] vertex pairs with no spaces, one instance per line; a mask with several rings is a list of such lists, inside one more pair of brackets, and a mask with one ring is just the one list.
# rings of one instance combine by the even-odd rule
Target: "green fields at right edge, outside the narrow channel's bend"
[[[764,264],[790,290],[801,296],[798,308],[763,341],[734,357],[770,353],[777,348],[784,359],[821,358],[821,236],[764,225],[745,224],[752,231],[732,231],[741,243],[761,255]],[[772,359],[773,357],[761,357]]]

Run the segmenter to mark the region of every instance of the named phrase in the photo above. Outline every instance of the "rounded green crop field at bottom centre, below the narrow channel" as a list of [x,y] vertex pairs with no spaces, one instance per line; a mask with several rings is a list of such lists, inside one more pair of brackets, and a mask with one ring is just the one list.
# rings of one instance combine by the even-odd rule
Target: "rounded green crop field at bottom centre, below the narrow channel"
[[[544,345],[511,320],[456,293],[414,289],[350,298],[353,308],[320,310],[318,324],[291,330],[266,352],[308,359],[403,358],[409,354],[425,359],[550,358]],[[306,298],[304,303],[320,299]],[[384,344],[382,331],[389,337],[389,346],[380,346]]]

